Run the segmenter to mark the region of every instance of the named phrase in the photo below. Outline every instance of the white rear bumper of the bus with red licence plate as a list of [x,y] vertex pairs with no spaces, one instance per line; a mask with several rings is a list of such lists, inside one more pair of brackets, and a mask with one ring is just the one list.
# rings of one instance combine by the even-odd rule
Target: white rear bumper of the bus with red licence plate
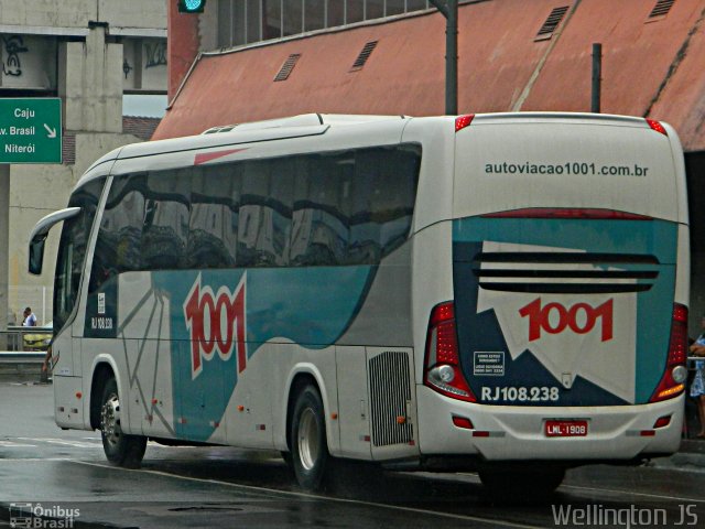
[[[676,452],[685,398],[640,406],[557,408],[475,404],[425,386],[419,386],[416,395],[419,446],[426,456],[566,463],[628,462]],[[454,423],[454,417],[462,419]],[[579,428],[556,435],[547,433],[547,421]]]

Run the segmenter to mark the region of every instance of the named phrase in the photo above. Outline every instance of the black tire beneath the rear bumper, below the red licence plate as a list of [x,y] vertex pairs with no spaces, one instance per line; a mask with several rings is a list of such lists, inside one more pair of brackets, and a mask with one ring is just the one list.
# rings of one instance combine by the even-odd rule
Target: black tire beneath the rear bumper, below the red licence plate
[[485,468],[478,475],[495,499],[521,503],[550,497],[563,482],[565,468]]

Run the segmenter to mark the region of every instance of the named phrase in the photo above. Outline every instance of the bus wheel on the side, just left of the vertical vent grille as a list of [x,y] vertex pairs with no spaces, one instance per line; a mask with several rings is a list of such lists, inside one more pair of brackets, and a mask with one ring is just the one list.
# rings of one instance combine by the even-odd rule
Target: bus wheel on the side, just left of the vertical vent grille
[[291,463],[296,481],[306,490],[318,490],[329,464],[323,400],[305,386],[296,397],[291,421]]

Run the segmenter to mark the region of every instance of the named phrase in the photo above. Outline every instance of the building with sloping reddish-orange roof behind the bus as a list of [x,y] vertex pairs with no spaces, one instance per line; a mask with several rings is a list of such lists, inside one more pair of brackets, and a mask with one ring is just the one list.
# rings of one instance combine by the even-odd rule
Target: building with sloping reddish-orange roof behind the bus
[[[208,0],[170,8],[170,106],[154,138],[305,112],[445,111],[445,25],[430,2]],[[600,111],[675,127],[688,177],[691,332],[705,311],[705,2],[470,0],[458,8],[458,111]]]

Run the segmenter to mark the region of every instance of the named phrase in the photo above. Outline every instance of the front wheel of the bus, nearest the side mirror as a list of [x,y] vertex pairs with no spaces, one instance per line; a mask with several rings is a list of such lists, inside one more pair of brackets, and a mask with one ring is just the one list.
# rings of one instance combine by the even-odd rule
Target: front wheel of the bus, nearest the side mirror
[[106,457],[113,465],[139,468],[147,450],[147,438],[122,433],[118,382],[115,377],[106,380],[100,402],[100,438]]

